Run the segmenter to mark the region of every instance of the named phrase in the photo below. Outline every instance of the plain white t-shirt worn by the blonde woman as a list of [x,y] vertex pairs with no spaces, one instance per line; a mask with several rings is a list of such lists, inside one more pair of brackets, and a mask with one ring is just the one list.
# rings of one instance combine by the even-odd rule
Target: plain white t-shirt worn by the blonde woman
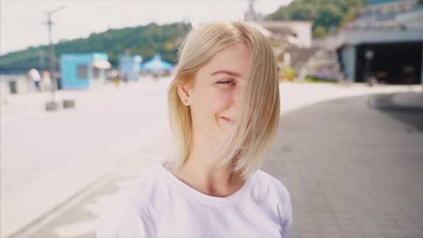
[[285,186],[257,170],[239,191],[208,196],[154,164],[122,189],[97,223],[97,237],[290,237]]

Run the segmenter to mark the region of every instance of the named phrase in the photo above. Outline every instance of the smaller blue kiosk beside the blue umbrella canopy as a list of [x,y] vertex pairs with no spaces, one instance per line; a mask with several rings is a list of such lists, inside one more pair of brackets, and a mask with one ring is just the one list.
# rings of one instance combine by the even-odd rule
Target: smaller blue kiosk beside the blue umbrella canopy
[[140,65],[143,58],[138,55],[119,56],[120,80],[136,81],[140,76]]

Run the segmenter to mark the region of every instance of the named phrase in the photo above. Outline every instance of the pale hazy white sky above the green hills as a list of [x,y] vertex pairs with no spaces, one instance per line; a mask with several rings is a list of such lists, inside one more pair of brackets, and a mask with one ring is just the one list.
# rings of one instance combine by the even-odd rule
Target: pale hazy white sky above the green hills
[[[257,0],[255,11],[269,14],[293,0]],[[87,38],[107,29],[145,25],[150,22],[211,22],[242,20],[246,0],[0,0],[0,55],[47,45],[47,12],[52,15],[53,41]]]

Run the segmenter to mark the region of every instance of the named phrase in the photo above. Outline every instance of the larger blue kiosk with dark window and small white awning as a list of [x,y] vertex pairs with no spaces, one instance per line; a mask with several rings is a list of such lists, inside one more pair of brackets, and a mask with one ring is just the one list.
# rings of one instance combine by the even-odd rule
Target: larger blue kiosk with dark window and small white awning
[[111,68],[108,58],[104,53],[63,54],[62,88],[101,88],[104,85],[104,71]]

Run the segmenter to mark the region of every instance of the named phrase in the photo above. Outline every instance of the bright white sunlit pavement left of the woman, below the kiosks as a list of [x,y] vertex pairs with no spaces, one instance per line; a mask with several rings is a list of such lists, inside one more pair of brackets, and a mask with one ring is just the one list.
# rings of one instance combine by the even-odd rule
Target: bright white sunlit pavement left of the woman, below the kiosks
[[168,132],[170,78],[64,90],[74,109],[46,112],[49,93],[13,95],[0,111],[0,237],[56,209]]

